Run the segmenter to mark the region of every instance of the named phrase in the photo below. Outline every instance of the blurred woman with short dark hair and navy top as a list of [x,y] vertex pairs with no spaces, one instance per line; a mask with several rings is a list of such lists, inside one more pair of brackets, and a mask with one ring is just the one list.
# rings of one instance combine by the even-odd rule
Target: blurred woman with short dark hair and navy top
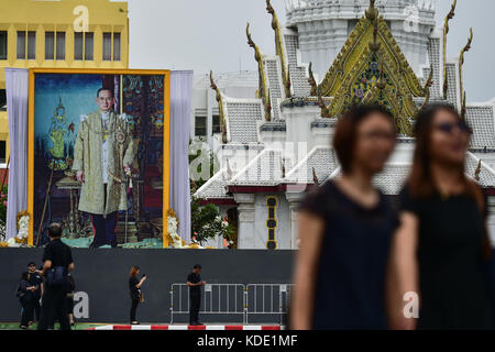
[[290,329],[387,328],[386,266],[398,220],[372,178],[395,143],[394,118],[381,106],[340,119],[333,146],[342,176],[310,190],[300,207]]

